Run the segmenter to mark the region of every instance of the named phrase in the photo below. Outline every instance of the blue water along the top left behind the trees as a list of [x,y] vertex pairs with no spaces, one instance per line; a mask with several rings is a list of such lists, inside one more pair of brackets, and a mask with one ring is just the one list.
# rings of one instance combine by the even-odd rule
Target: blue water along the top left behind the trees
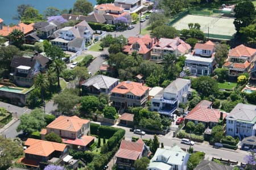
[[[93,5],[96,4],[96,0],[88,1]],[[39,10],[40,14],[43,14],[43,11],[49,6],[56,7],[59,10],[70,9],[75,2],[76,0],[0,0],[0,18],[4,20],[5,24],[18,23],[17,20],[13,19],[13,16],[17,14],[17,6],[22,4],[32,5]]]

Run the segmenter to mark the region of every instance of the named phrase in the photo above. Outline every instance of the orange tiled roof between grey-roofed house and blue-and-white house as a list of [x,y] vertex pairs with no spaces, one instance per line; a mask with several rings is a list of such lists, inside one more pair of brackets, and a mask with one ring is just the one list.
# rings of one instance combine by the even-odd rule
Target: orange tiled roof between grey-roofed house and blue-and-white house
[[131,92],[135,96],[142,96],[149,88],[143,86],[142,83],[125,81],[115,86],[111,92],[117,94],[127,94]]

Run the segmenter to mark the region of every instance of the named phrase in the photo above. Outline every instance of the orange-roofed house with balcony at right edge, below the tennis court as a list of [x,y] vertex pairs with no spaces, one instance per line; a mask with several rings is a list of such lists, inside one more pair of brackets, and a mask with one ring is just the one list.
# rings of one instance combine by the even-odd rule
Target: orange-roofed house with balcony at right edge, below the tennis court
[[223,67],[228,69],[228,75],[231,78],[236,78],[243,73],[250,74],[255,59],[256,49],[241,44],[230,50],[228,61],[224,63]]

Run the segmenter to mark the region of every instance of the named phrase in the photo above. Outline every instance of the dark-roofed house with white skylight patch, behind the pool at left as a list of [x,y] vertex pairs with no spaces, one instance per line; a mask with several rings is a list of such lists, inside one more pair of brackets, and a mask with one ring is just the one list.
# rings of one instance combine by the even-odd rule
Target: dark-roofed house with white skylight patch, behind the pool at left
[[14,83],[20,87],[31,87],[34,78],[47,69],[49,59],[35,53],[32,57],[14,56],[11,61],[11,76]]

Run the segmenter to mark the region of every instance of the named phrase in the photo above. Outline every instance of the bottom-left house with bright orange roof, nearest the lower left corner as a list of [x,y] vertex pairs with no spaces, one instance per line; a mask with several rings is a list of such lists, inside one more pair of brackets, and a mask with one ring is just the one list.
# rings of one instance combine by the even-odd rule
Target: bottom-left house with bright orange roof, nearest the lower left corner
[[[61,163],[68,155],[68,145],[28,138],[24,143],[24,158],[19,163],[30,169],[44,169],[47,163]],[[43,167],[42,167],[43,166]]]

